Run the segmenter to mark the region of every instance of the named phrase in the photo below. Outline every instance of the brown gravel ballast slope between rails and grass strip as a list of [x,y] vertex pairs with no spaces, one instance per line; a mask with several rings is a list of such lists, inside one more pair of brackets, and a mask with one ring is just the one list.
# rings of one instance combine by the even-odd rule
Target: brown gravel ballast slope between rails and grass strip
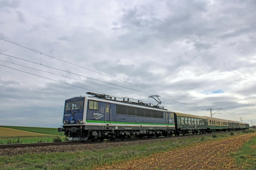
[[[208,136],[208,135],[213,135],[213,134],[197,135],[196,137]],[[15,156],[15,155],[20,155],[20,154],[25,154],[25,153],[39,154],[41,152],[51,153],[51,152],[75,152],[75,151],[81,151],[81,150],[99,150],[99,149],[106,149],[106,148],[110,148],[110,147],[120,147],[123,145],[138,145],[138,144],[162,142],[162,141],[186,139],[186,138],[194,138],[194,137],[195,136],[179,136],[179,137],[172,137],[172,138],[148,139],[148,140],[113,142],[113,143],[1,149],[0,156]]]

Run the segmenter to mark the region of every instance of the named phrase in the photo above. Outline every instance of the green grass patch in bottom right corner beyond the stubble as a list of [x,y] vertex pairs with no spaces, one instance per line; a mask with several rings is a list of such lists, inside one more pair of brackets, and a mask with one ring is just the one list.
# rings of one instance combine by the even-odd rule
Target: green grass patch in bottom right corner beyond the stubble
[[256,138],[253,138],[233,155],[236,164],[245,170],[256,169]]

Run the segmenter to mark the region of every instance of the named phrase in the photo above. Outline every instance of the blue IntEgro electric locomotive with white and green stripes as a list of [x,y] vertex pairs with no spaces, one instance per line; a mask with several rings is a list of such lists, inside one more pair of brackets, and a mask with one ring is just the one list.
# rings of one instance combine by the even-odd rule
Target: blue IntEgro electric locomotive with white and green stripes
[[173,135],[174,113],[143,102],[119,101],[88,92],[94,97],[65,101],[63,128],[69,140],[126,139]]

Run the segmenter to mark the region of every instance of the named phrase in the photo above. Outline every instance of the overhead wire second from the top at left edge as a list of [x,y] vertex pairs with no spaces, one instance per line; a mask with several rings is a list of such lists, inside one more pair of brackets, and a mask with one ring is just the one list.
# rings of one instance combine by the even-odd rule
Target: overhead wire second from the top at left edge
[[[34,64],[39,64],[39,63],[36,63],[36,62],[32,62],[32,61],[28,61],[28,60],[21,59],[21,58],[18,58],[18,57],[14,57],[14,56],[11,56],[11,55],[7,55],[7,54],[3,54],[3,53],[0,53],[0,54],[6,55],[6,56],[9,56],[9,57],[13,57],[13,58],[16,58],[16,59],[20,59],[20,60],[23,60],[23,61],[26,61],[26,62],[30,62],[30,63],[34,63]],[[51,66],[48,66],[48,65],[44,65],[44,64],[39,64],[39,65],[43,65],[43,66],[46,66],[46,67],[49,67],[49,68],[53,68],[53,69],[56,69],[56,70],[64,71],[64,72],[67,72],[67,73],[71,73],[71,74],[74,74],[74,75],[77,75],[77,76],[81,76],[81,77],[85,77],[85,78],[90,78],[90,77],[82,76],[82,75],[79,75],[79,74],[76,74],[76,73],[72,73],[72,72],[69,72],[69,71],[65,71],[65,70],[61,70],[61,69],[58,69],[58,68],[54,68],[54,67],[51,67]],[[95,78],[90,78],[90,79],[97,80],[97,79],[95,79]],[[104,82],[104,83],[108,83],[108,82],[101,81],[101,80],[97,80],[97,81]],[[129,88],[127,88],[127,87],[119,86],[119,85],[112,84],[112,83],[108,83],[108,84],[111,84],[111,85],[115,85],[115,86],[118,86],[118,87],[122,87],[122,88],[129,89]],[[136,91],[136,92],[141,92],[141,91],[137,91],[137,90],[134,90],[134,89],[129,89],[129,90],[133,90],[133,91]],[[142,92],[142,93],[145,93],[145,92]],[[149,93],[145,93],[145,94],[149,94]],[[140,95],[143,95],[143,94],[140,94]],[[152,94],[149,94],[149,95],[152,95]],[[162,97],[161,97],[161,98],[162,98]],[[196,107],[196,106],[193,106],[193,105],[181,103],[181,102],[178,102],[178,101],[175,101],[175,100],[171,100],[171,99],[166,99],[166,98],[162,98],[162,99],[163,99],[163,100],[168,100],[168,101],[173,101],[173,102],[180,103],[180,104],[184,104],[184,105],[188,105],[188,106],[192,106],[192,107]],[[196,108],[199,108],[199,109],[202,109],[202,110],[207,110],[207,109],[203,109],[203,108],[200,108],[200,107],[196,107]]]

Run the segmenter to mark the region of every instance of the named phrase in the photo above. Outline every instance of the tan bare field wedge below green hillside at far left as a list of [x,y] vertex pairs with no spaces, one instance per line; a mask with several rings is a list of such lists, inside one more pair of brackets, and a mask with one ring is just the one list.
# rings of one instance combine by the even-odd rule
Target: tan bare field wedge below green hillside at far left
[[0,127],[0,136],[48,136],[48,135]]

